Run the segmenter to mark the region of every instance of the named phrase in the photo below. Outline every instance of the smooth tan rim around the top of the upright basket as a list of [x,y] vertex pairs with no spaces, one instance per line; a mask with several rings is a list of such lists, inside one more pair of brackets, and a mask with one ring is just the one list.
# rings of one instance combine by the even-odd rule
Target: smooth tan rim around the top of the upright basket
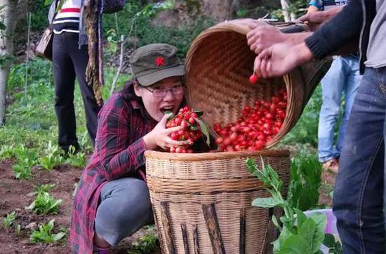
[[146,150],[145,157],[149,159],[174,160],[180,162],[200,162],[203,160],[226,160],[240,157],[289,157],[290,151],[283,150],[258,150],[239,152],[216,153],[168,153],[155,150]]

